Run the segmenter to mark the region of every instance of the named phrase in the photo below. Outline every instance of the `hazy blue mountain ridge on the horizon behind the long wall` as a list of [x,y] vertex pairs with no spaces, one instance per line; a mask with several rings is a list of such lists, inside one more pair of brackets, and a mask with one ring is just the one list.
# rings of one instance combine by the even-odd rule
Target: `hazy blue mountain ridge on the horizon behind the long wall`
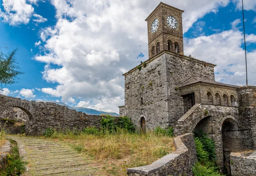
[[70,109],[74,109],[76,111],[81,111],[83,113],[86,113],[86,114],[89,114],[89,115],[102,115],[102,114],[109,114],[111,116],[119,116],[119,114],[117,113],[114,113],[114,112],[104,112],[104,111],[97,111],[95,109],[90,109],[90,108],[83,108],[83,107],[71,107],[67,104],[65,104],[64,102],[55,102],[55,101],[40,101],[40,100],[36,100],[36,99],[32,99],[32,101],[35,101],[35,102],[52,102],[52,103],[56,103],[58,105],[62,105],[62,106],[67,106],[68,108]]

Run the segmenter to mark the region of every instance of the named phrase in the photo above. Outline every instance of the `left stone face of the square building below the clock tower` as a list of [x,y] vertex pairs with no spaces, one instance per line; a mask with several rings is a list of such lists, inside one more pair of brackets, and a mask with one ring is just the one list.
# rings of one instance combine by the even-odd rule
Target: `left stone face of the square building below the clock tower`
[[[140,128],[145,117],[146,129],[168,125],[166,106],[166,60],[165,55],[147,62],[141,70],[135,68],[125,76],[125,116],[129,116]],[[141,105],[140,99],[143,98]]]

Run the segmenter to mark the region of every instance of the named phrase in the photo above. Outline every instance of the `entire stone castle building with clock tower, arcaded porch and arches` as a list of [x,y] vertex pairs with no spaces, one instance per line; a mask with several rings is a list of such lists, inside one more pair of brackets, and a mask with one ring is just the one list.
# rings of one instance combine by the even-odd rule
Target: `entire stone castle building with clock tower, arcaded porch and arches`
[[142,131],[204,131],[216,142],[221,169],[230,173],[230,153],[256,146],[256,87],[216,82],[216,65],[183,54],[183,12],[161,2],[146,18],[149,59],[123,74],[119,114]]

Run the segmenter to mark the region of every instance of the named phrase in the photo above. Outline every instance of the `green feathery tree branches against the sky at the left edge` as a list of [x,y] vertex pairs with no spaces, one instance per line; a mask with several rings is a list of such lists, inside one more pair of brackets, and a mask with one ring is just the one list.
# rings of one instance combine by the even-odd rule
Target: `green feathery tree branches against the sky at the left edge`
[[4,54],[0,49],[0,86],[17,83],[17,79],[19,79],[17,76],[24,74],[24,72],[19,71],[20,67],[15,59],[16,52],[17,48],[8,54]]

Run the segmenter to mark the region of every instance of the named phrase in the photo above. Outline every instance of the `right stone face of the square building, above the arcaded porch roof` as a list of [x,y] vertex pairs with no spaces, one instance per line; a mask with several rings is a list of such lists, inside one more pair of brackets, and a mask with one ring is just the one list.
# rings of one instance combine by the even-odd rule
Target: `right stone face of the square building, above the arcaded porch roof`
[[[184,114],[183,98],[179,87],[183,82],[193,76],[207,77],[208,79],[215,80],[214,65],[195,60],[191,57],[185,57],[178,54],[165,54],[167,65],[167,102],[168,102],[168,115],[169,125],[174,123]],[[175,89],[176,88],[176,89]],[[195,95],[195,97],[200,97]]]

